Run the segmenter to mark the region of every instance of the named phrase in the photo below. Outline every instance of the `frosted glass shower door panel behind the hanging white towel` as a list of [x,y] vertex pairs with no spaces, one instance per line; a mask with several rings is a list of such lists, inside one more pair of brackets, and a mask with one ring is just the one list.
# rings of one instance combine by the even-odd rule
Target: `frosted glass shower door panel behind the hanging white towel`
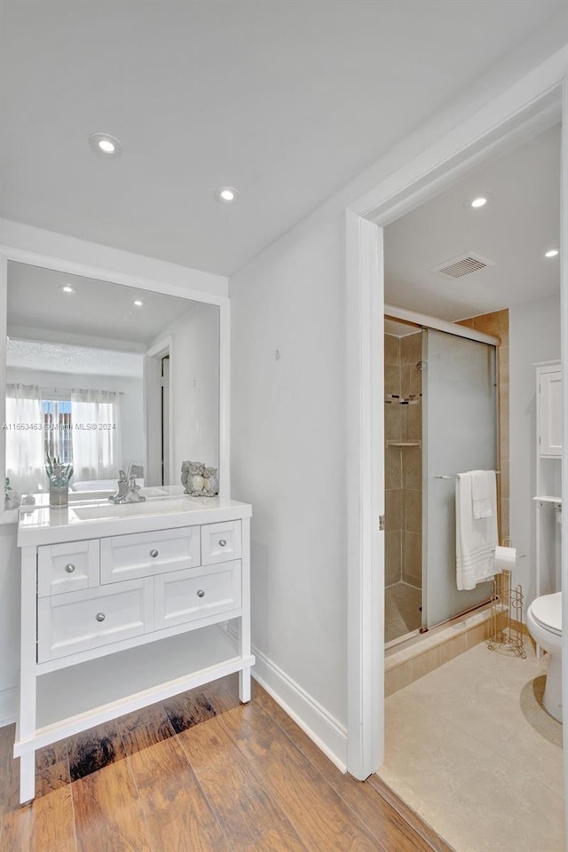
[[422,627],[489,600],[491,584],[458,591],[455,475],[497,468],[495,347],[422,333]]

